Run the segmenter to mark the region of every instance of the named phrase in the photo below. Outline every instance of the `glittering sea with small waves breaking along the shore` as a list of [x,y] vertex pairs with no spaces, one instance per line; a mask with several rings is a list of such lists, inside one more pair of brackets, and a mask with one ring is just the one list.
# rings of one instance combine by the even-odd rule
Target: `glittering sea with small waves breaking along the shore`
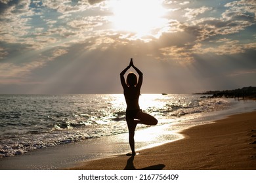
[[[142,94],[139,104],[158,126],[179,129],[256,109],[251,100],[192,94]],[[0,158],[127,133],[125,107],[122,94],[0,95]]]

